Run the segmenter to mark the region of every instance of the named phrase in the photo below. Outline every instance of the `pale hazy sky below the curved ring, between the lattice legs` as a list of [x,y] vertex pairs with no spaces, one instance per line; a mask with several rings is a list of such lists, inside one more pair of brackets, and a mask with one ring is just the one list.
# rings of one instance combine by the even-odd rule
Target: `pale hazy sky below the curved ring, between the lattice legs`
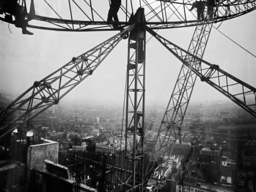
[[[107,9],[106,9],[107,14]],[[256,54],[256,11],[222,23],[219,28],[249,51]],[[214,26],[218,26],[219,23]],[[49,75],[93,46],[115,35],[111,32],[59,32],[29,29],[33,36],[22,35],[20,28],[0,21],[0,91],[19,95],[34,81]],[[158,33],[188,48],[194,27],[159,30]],[[147,38],[150,35],[147,34]],[[181,62],[152,38],[146,47],[146,102],[167,103],[178,77]],[[252,86],[256,86],[256,58],[212,29],[204,59]],[[85,102],[122,102],[127,64],[127,39],[65,100]],[[191,101],[226,99],[209,85],[197,81]]]

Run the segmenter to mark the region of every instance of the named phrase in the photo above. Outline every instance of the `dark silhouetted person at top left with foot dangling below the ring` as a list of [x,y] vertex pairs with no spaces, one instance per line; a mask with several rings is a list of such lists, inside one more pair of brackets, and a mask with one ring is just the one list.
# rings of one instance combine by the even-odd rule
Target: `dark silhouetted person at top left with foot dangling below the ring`
[[27,30],[28,22],[25,20],[25,7],[19,5],[18,0],[0,1],[0,13],[9,13],[15,18],[15,26],[22,29],[22,34],[33,35]]

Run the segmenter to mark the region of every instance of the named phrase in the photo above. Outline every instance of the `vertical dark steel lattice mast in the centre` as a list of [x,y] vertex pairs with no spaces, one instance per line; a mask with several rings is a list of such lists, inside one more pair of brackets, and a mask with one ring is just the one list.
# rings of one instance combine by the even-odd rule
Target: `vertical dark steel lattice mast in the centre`
[[[138,26],[129,36],[126,74],[125,185],[132,191],[142,191],[144,183],[146,31],[141,24],[145,21],[143,11],[138,9]],[[129,163],[132,163],[132,174],[127,172]]]

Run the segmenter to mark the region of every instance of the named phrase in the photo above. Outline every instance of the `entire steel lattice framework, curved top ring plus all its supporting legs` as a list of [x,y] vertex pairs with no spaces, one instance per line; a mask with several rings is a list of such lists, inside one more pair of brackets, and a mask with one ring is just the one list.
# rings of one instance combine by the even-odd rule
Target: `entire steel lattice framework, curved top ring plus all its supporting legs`
[[[172,153],[171,137],[174,141],[180,139],[183,118],[197,76],[256,117],[256,89],[221,70],[218,65],[202,59],[213,22],[251,12],[256,9],[255,2],[255,0],[219,1],[214,6],[213,20],[198,22],[194,19],[194,12],[189,11],[190,0],[142,0],[135,14],[133,9],[136,6],[132,4],[134,2],[126,0],[118,13],[121,21],[115,23],[120,27],[114,29],[114,22],[107,22],[107,17],[102,17],[106,14],[103,12],[103,10],[106,12],[106,9],[102,10],[102,7],[109,6],[109,1],[95,4],[91,0],[68,0],[62,5],[65,8],[60,10],[53,0],[20,0],[19,4],[25,7],[23,15],[29,21],[27,27],[57,31],[121,30],[121,32],[72,58],[66,65],[41,81],[36,81],[10,103],[0,112],[0,139],[15,128],[28,123],[47,108],[56,105],[68,92],[92,75],[114,47],[130,33],[126,74],[125,169],[118,167],[113,173],[125,190],[142,191],[155,165],[162,165],[163,157],[169,158]],[[0,9],[2,9],[1,5]],[[43,9],[47,11],[43,13]],[[3,12],[0,20],[15,23],[10,17],[6,17],[4,10],[0,11]],[[153,30],[187,26],[196,26],[188,51]],[[160,147],[155,147],[151,153],[150,161],[154,166],[149,161],[147,169],[144,170],[146,31],[173,53],[182,62],[182,67],[158,131],[156,142],[159,142]],[[129,162],[132,163],[131,169],[127,166]],[[123,171],[124,179],[118,177]],[[159,183],[162,182],[163,175],[159,175],[158,179]]]

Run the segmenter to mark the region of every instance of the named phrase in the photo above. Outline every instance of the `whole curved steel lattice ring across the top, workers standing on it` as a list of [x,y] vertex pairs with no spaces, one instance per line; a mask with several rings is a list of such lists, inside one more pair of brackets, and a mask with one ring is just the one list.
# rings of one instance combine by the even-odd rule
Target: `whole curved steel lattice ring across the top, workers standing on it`
[[[196,11],[189,11],[191,0],[178,1],[151,1],[142,0],[141,7],[146,12],[146,24],[151,29],[166,29],[198,25],[193,14]],[[29,22],[28,27],[57,31],[104,31],[118,30],[113,28],[114,22],[108,22],[107,11],[102,6],[109,6],[108,1],[101,4],[91,0],[69,0],[61,5],[53,0],[20,1],[20,5],[26,7],[24,14]],[[132,25],[129,18],[133,13],[132,1],[126,1],[121,5],[118,17],[121,28]],[[1,9],[1,7],[0,7]],[[215,3],[215,14],[212,22],[219,22],[238,17],[239,15],[251,12],[256,9],[255,0],[230,1],[223,0]],[[27,11],[29,10],[29,11]],[[46,10],[46,11],[45,11]],[[105,16],[103,16],[105,15]],[[205,12],[205,16],[207,13]],[[12,19],[0,15],[0,20],[13,23]],[[200,22],[201,25],[207,21]]]

